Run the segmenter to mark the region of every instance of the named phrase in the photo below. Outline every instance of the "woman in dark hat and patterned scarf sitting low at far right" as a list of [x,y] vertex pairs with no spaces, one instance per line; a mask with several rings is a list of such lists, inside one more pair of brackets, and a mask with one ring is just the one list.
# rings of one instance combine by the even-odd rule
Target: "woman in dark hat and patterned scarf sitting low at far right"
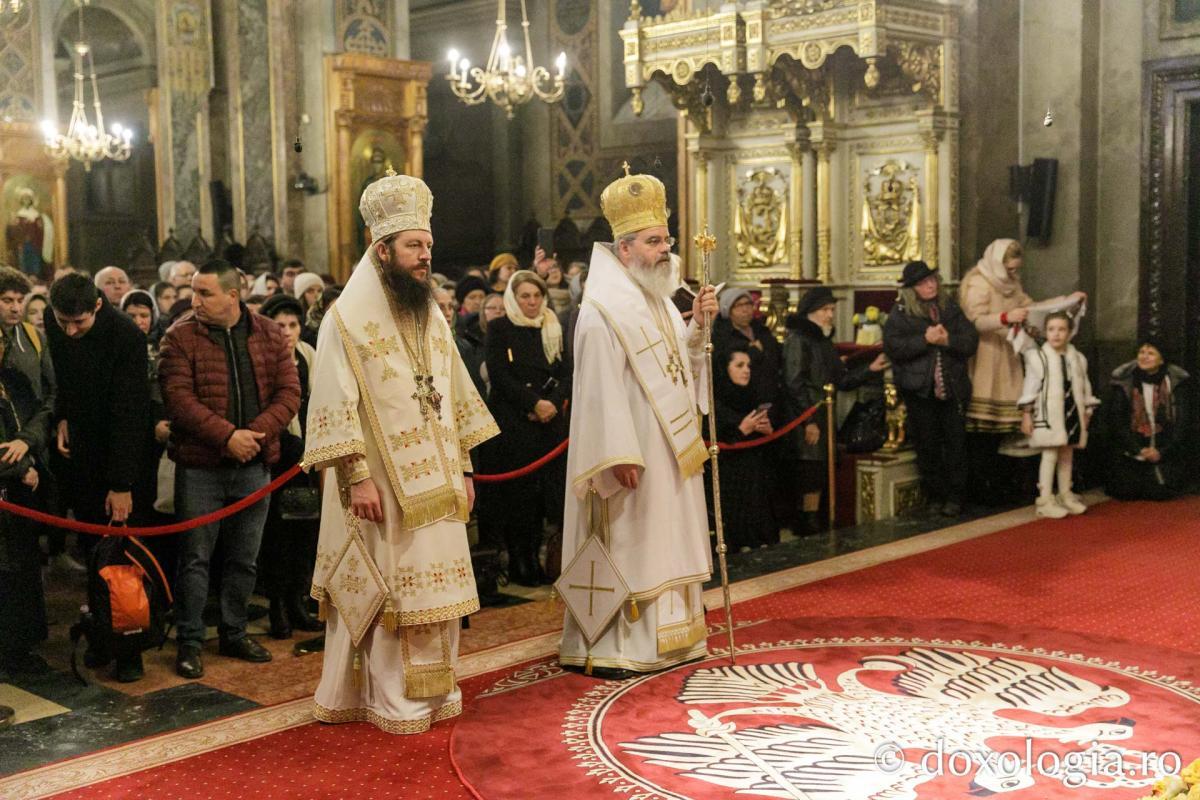
[[1192,379],[1144,338],[1112,371],[1106,403],[1111,461],[1105,491],[1120,500],[1166,500],[1187,483]]

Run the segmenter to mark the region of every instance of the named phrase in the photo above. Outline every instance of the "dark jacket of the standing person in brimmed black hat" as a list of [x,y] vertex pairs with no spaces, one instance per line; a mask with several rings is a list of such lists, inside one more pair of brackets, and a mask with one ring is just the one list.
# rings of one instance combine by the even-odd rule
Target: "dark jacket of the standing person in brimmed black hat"
[[967,360],[979,347],[979,331],[954,300],[946,300],[941,317],[949,342],[946,347],[935,347],[925,341],[925,330],[934,323],[910,313],[902,302],[898,303],[883,324],[883,351],[892,360],[892,373],[900,391],[928,398],[934,396],[934,365],[941,350],[942,375],[949,397],[967,403],[971,399]]

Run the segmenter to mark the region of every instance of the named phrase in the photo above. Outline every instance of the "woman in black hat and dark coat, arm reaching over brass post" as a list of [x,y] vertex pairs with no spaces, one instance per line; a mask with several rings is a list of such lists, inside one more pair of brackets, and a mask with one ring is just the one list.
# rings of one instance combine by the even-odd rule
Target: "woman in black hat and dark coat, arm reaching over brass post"
[[[838,356],[833,343],[833,318],[838,300],[826,287],[809,289],[800,307],[787,319],[784,339],[784,392],[787,396],[788,419],[799,416],[824,399],[826,384],[841,391],[858,389],[874,374],[887,369],[887,357],[853,369]],[[799,459],[799,489],[802,495],[800,530],[811,534],[827,528],[821,516],[821,492],[826,487],[828,444],[826,426],[817,417],[792,434]]]

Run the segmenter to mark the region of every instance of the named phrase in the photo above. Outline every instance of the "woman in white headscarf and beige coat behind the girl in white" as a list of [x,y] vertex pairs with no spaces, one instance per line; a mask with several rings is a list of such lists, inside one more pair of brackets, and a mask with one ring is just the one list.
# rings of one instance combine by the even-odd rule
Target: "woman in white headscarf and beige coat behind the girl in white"
[[[988,497],[995,495],[996,487],[988,488],[994,479],[1014,471],[995,461],[997,447],[1006,437],[1019,435],[1021,428],[1016,401],[1025,373],[1021,357],[1008,342],[1008,332],[1025,321],[1033,305],[1033,299],[1021,287],[1024,263],[1025,251],[1019,241],[997,239],[988,245],[983,258],[959,285],[959,305],[979,331],[979,349],[970,365],[971,401],[966,416],[974,473],[972,486],[984,487],[982,494]],[[1076,291],[1055,301],[1086,297],[1085,293]],[[1021,487],[1013,487],[1013,491],[1020,493]]]

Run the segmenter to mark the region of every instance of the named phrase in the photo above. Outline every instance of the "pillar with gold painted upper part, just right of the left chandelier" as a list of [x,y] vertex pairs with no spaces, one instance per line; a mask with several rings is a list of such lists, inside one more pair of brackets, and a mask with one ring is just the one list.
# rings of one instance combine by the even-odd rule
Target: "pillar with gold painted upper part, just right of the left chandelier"
[[212,178],[209,103],[212,90],[212,19],[208,4],[160,0],[158,125],[155,142],[158,231],[170,229],[185,245],[197,230],[210,243]]

